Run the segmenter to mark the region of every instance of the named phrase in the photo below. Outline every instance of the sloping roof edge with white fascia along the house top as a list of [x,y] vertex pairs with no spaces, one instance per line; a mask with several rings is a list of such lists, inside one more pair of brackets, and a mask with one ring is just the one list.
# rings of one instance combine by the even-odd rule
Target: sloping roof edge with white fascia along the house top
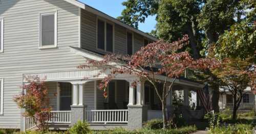
[[84,9],[84,10],[87,10],[87,11],[89,11],[91,13],[94,13],[94,14],[100,16],[100,17],[103,17],[105,19],[109,19],[109,20],[113,21],[115,24],[118,24],[118,25],[120,25],[120,26],[122,26],[122,27],[124,27],[126,29],[129,29],[129,30],[135,32],[135,33],[141,34],[141,35],[147,37],[148,39],[151,39],[153,41],[157,41],[156,37],[151,36],[151,35],[149,35],[149,34],[147,34],[145,32],[142,32],[142,31],[140,31],[140,30],[138,30],[136,28],[133,28],[133,27],[127,25],[127,24],[124,24],[122,21],[120,21],[120,20],[118,20],[118,19],[116,19],[116,18],[114,18],[114,17],[112,17],[112,16],[110,16],[108,14],[105,14],[105,13],[103,13],[103,12],[101,12],[101,11],[99,11],[99,10],[89,6],[89,5],[86,5],[86,4],[84,4],[84,3],[80,2],[80,1],[77,1],[77,0],[64,0],[64,1],[66,1],[68,3],[71,3],[71,4],[77,6],[77,7],[81,8],[81,9]]

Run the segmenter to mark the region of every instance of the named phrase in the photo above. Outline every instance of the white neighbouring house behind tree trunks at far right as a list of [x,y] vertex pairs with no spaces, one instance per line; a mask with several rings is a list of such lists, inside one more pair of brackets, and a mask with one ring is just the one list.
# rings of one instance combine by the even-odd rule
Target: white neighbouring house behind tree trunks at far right
[[[233,109],[233,97],[229,91],[220,90],[219,107],[220,110]],[[251,92],[250,87],[247,87],[243,93],[245,94],[242,98],[238,110],[251,110],[255,107],[255,95]]]

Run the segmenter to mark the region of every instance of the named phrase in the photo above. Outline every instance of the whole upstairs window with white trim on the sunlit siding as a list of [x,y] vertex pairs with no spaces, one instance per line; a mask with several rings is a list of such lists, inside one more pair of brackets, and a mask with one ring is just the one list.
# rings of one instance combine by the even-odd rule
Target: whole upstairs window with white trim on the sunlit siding
[[40,13],[39,48],[57,47],[57,11]]

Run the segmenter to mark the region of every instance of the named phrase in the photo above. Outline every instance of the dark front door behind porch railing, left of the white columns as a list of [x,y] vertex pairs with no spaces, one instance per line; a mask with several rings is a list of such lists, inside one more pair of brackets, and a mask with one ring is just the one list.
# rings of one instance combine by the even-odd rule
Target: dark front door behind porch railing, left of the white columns
[[60,110],[71,110],[72,105],[72,84],[60,83]]

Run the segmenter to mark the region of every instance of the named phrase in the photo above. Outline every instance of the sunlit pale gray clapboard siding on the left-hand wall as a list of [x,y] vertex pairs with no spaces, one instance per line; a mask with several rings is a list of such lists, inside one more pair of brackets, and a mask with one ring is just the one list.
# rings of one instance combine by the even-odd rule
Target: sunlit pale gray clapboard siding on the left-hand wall
[[[70,52],[78,47],[78,7],[62,0],[1,0],[4,17],[4,53],[0,53],[0,78],[4,78],[4,115],[0,128],[19,128],[20,110],[13,97],[21,92],[26,73],[76,70],[84,58]],[[39,13],[57,10],[56,49],[39,50]],[[48,83],[50,104],[56,109],[56,83]]]

